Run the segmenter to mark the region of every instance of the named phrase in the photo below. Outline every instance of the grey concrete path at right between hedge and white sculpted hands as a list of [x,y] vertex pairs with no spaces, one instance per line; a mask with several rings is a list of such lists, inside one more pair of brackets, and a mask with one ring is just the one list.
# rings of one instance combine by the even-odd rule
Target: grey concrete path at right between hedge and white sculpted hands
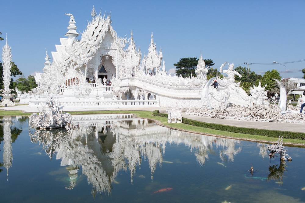
[[243,128],[258,128],[267,130],[292,131],[305,133],[305,124],[300,123],[274,123],[274,122],[256,122],[256,121],[236,121],[221,118],[210,118],[202,116],[192,116],[183,113],[182,117],[202,121],[206,123],[216,123],[223,125],[231,125]]

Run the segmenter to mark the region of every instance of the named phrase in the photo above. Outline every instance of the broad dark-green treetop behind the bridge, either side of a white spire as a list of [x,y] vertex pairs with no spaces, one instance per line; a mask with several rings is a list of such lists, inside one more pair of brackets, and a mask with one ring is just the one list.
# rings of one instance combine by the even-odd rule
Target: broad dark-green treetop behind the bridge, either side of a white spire
[[[204,59],[204,62],[206,64],[206,67],[210,67],[214,65],[213,60],[211,59]],[[188,77],[192,75],[196,76],[195,70],[196,66],[198,64],[198,58],[193,57],[193,58],[180,58],[178,63],[175,63],[174,66],[178,70],[176,70],[177,75],[181,75],[182,77]]]

